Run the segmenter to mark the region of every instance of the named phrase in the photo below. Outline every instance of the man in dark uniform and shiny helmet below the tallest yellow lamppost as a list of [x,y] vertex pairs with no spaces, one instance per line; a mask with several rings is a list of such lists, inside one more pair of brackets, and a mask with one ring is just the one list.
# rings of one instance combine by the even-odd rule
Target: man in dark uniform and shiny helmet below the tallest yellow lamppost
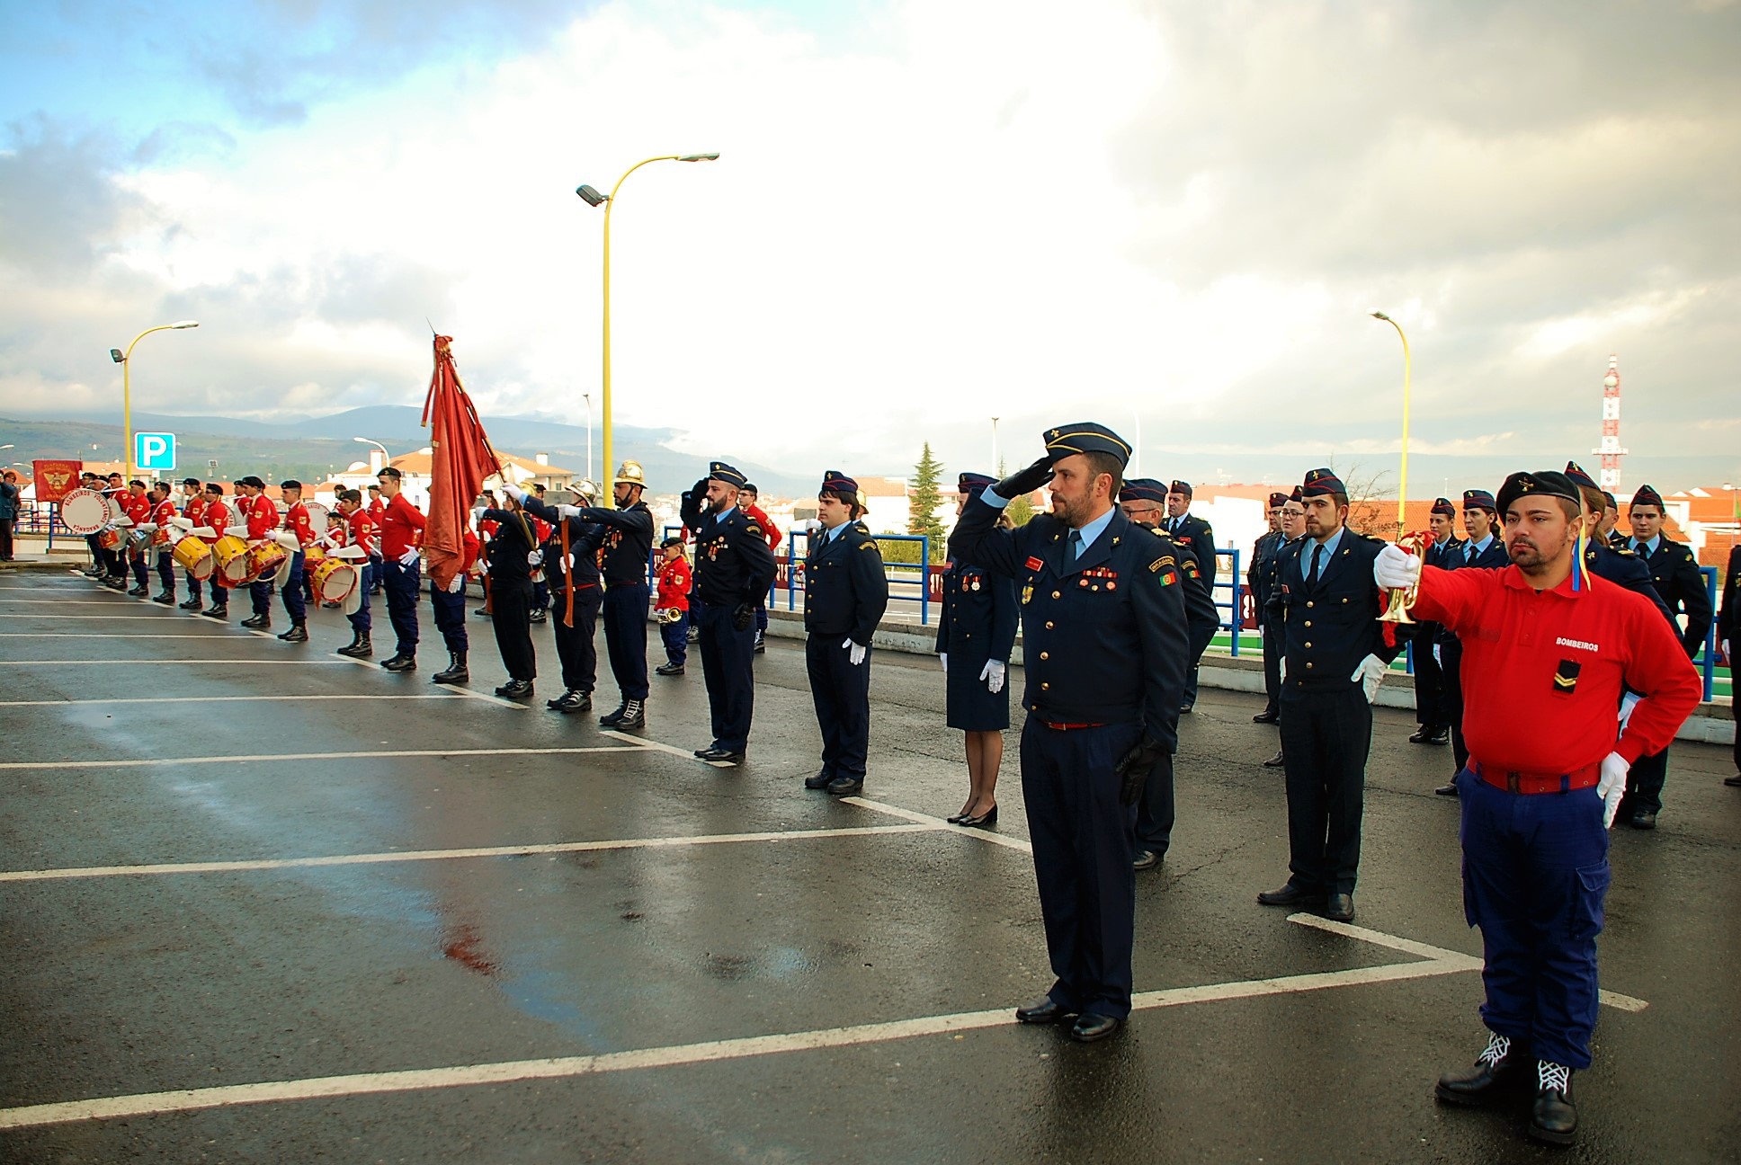
[[599,571],[604,576],[604,650],[622,700],[599,723],[642,728],[648,700],[648,561],[653,557],[653,510],[641,500],[648,479],[641,461],[623,461],[611,488],[615,510],[581,507],[580,521],[604,528]]

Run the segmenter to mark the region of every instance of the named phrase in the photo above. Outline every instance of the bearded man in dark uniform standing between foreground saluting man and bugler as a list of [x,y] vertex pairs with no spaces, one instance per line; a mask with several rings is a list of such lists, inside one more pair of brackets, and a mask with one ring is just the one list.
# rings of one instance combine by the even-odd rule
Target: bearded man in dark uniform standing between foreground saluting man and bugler
[[1288,881],[1264,906],[1321,906],[1354,918],[1372,698],[1400,646],[1384,643],[1384,543],[1348,529],[1348,488],[1328,468],[1301,484],[1306,540],[1281,562],[1269,615],[1283,634],[1281,751],[1288,787]]

